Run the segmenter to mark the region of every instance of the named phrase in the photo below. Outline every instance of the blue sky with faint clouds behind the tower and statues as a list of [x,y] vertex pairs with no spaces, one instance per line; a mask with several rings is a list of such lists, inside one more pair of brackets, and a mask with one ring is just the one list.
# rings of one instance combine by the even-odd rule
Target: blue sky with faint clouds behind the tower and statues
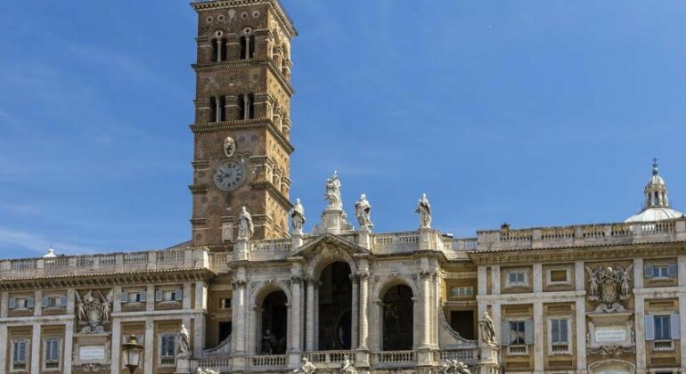
[[[291,198],[339,170],[377,232],[618,222],[660,159],[686,210],[686,2],[284,0]],[[0,3],[0,257],[187,240],[186,1]]]

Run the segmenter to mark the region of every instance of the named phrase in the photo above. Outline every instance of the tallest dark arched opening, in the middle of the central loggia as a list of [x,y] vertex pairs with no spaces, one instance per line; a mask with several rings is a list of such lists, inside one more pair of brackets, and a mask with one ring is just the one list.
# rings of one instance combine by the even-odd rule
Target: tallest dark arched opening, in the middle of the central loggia
[[319,280],[319,350],[350,349],[353,283],[350,265],[327,265]]

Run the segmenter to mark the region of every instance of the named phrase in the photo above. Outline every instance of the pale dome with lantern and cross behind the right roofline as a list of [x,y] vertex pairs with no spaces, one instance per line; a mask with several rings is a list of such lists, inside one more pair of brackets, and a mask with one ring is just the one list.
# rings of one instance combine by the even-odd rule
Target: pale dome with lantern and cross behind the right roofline
[[625,222],[654,222],[684,216],[682,212],[672,209],[669,205],[667,185],[659,175],[657,159],[653,159],[653,175],[650,175],[643,193],[645,198],[641,212],[630,216]]

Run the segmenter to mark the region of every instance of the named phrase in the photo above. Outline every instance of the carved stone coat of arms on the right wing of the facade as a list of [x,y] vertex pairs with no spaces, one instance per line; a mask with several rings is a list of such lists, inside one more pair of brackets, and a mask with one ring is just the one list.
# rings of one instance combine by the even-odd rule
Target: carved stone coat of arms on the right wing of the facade
[[596,312],[598,313],[613,313],[625,312],[625,306],[620,304],[620,300],[625,300],[631,297],[631,272],[633,264],[630,264],[626,269],[622,266],[615,265],[612,267],[598,266],[595,270],[586,266],[586,273],[588,273],[589,292],[588,299],[591,301],[600,301]]

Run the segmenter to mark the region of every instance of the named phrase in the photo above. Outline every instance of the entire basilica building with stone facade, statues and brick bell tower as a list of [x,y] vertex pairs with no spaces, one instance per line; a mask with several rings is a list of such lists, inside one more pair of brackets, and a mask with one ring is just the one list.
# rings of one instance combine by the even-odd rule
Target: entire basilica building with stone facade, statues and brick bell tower
[[422,195],[415,227],[374,232],[336,173],[306,215],[292,20],[278,0],[192,8],[191,240],[0,261],[0,372],[126,373],[135,338],[145,374],[686,373],[686,216],[657,163],[625,222],[453,238]]

